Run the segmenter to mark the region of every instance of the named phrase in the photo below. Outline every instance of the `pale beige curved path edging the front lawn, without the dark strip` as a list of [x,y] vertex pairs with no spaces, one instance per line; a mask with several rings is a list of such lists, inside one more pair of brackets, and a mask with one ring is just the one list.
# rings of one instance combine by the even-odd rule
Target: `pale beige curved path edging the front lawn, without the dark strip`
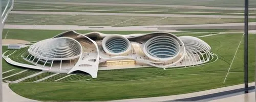
[[[250,86],[254,86],[255,83],[249,83]],[[148,98],[134,98],[134,99],[122,99],[122,100],[111,100],[110,102],[128,102],[128,101],[136,101],[136,102],[148,102],[148,101],[168,101],[168,100],[175,100],[175,99],[182,99],[182,98],[188,98],[188,97],[195,97],[195,96],[202,96],[212,93],[218,93],[218,92],[224,92],[234,89],[243,88],[244,84],[234,85],[234,86],[228,86],[228,87],[222,87],[217,89],[211,89],[211,90],[205,90],[200,92],[194,92],[194,93],[187,93],[187,94],[179,94],[179,95],[170,95],[170,96],[160,96],[160,97],[148,97]],[[3,98],[4,102],[34,102],[36,100],[31,100],[22,96],[19,96],[15,92],[13,92],[9,86],[8,83],[3,83]],[[251,92],[249,94],[242,94],[242,95],[236,95],[231,97],[226,97],[222,99],[212,100],[211,102],[226,102],[226,101],[238,101],[238,102],[250,102],[254,101],[254,92]],[[248,100],[248,101],[247,101]]]

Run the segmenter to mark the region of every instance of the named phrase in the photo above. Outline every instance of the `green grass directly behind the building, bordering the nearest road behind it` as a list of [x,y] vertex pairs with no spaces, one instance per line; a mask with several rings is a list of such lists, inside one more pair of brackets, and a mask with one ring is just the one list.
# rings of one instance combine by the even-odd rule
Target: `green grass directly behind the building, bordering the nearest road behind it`
[[[8,34],[7,34],[8,31]],[[52,38],[56,35],[58,35],[61,32],[64,32],[67,30],[33,30],[33,29],[4,29],[3,30],[3,38],[6,36],[6,39],[19,39],[19,40],[25,40],[25,41],[40,41]],[[88,33],[92,32],[90,30],[75,30],[79,33]],[[211,34],[216,34],[220,31],[226,31],[226,30],[204,30],[200,31],[201,33],[193,33],[193,32],[174,32],[176,36],[204,36]],[[133,33],[148,33],[152,31],[99,31],[106,34],[120,34],[120,35],[128,35]],[[8,52],[9,53],[9,52]]]

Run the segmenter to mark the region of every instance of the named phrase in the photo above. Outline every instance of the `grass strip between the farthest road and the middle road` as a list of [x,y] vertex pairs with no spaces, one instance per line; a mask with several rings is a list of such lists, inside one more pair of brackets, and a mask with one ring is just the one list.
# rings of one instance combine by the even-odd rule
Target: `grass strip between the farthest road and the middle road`
[[[73,1],[15,1],[14,9],[12,11],[48,11],[48,12],[99,12],[99,13],[145,13],[145,14],[194,14],[194,15],[243,15],[243,10],[226,10],[211,9],[211,8],[195,8],[184,6],[139,6],[140,4],[148,4],[148,2],[139,3],[139,5],[98,5],[90,4],[69,4]],[[77,1],[84,2],[84,1]],[[92,3],[93,1],[86,1]],[[102,1],[105,2],[105,1]],[[112,3],[113,1],[108,1]],[[115,3],[120,2],[116,1]],[[135,1],[136,2],[136,1]],[[137,1],[138,2],[138,1]],[[158,1],[159,3],[163,1]],[[177,2],[177,1],[176,1]],[[151,2],[153,3],[153,1]],[[201,1],[200,1],[201,3]],[[154,3],[153,3],[154,4]],[[182,3],[181,5],[183,5]],[[251,4],[251,3],[250,3]],[[166,5],[166,4],[165,4]],[[177,5],[177,4],[172,4]],[[226,7],[226,6],[225,6]],[[234,7],[234,6],[232,6]],[[251,15],[255,14],[255,10],[250,10]]]

